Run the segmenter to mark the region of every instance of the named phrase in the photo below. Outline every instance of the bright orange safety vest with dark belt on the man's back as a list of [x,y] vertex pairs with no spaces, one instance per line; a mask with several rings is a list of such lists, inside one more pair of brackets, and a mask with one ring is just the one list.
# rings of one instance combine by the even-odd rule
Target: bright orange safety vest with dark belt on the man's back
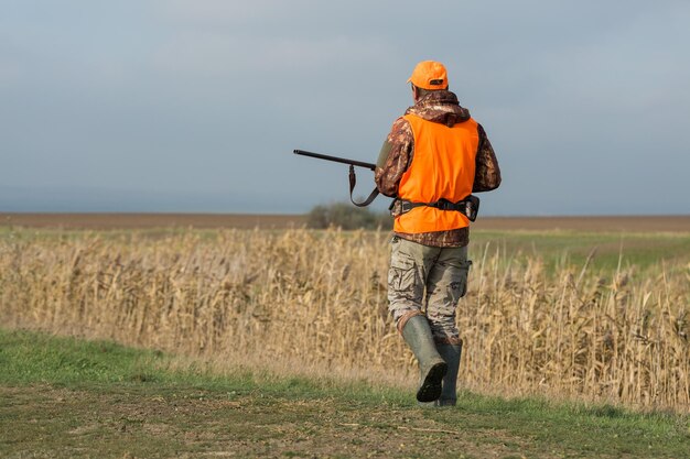
[[[414,135],[412,164],[402,174],[398,197],[412,203],[457,203],[472,193],[475,157],[479,144],[477,122],[449,128],[414,114],[403,117]],[[470,226],[464,214],[420,206],[396,217],[393,230],[408,234],[446,231]]]

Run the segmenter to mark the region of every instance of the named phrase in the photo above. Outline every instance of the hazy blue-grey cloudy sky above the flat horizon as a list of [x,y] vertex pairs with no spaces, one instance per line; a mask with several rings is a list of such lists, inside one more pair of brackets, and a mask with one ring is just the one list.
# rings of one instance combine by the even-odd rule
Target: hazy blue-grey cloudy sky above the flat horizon
[[435,59],[498,157],[483,215],[688,215],[688,24],[686,0],[0,0],[0,211],[345,201],[346,165],[292,151],[376,162]]

